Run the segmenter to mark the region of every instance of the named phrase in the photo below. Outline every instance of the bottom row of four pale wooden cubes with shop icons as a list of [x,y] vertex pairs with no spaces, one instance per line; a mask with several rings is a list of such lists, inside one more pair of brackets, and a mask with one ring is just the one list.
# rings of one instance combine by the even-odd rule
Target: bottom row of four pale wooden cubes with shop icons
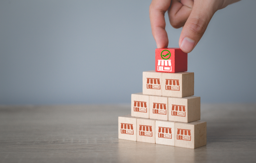
[[118,117],[118,138],[185,148],[206,145],[206,122],[190,123]]

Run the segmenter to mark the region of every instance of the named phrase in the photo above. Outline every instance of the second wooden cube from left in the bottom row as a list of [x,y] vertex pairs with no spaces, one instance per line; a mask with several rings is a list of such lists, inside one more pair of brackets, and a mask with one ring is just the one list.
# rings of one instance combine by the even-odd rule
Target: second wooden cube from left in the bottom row
[[156,143],[155,141],[155,120],[137,119],[137,141],[146,143]]

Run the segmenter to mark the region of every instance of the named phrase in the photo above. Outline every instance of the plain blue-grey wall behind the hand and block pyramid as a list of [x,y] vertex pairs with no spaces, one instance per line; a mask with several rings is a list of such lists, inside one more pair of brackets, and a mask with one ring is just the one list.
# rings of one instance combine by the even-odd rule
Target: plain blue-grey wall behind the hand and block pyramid
[[[129,103],[154,70],[150,3],[1,0],[0,104]],[[255,102],[255,6],[217,11],[189,53],[202,103]],[[166,28],[178,47],[181,29]]]

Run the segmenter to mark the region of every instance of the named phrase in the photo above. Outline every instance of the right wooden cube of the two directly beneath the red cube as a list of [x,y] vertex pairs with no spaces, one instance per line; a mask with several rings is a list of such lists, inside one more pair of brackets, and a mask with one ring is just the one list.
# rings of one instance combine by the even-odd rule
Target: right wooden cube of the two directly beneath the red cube
[[162,73],[162,96],[188,97],[194,95],[194,73]]

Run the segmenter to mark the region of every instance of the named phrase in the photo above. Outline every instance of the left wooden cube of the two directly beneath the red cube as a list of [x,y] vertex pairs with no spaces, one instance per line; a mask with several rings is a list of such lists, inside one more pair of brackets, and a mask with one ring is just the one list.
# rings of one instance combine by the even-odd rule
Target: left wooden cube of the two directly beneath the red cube
[[162,73],[156,71],[143,72],[143,94],[162,96]]

